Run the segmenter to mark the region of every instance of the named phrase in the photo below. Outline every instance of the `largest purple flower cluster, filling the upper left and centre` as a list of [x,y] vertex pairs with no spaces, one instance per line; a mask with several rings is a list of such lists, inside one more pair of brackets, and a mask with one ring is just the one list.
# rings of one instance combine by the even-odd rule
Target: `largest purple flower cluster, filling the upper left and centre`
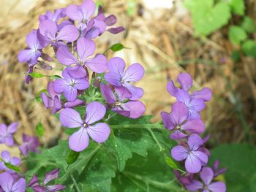
[[[124,31],[123,27],[110,27],[116,21],[114,15],[106,17],[102,7],[96,13],[92,0],[47,12],[39,17],[39,27],[26,37],[28,47],[18,54],[20,62],[29,64],[27,83],[36,65],[48,70],[53,69],[52,63],[61,66],[61,77],[56,75],[48,82],[47,93],[40,96],[53,114],[60,112],[62,126],[78,128],[69,137],[70,149],[77,152],[89,146],[89,138],[99,143],[108,139],[110,127],[105,116],[118,113],[139,118],[145,112],[138,101],[143,89],[132,85],[143,77],[143,66],[132,64],[125,69],[122,58],[107,59],[97,53],[95,38],[105,31]],[[51,47],[53,54],[44,53],[45,47]],[[84,118],[78,106],[85,106]]]

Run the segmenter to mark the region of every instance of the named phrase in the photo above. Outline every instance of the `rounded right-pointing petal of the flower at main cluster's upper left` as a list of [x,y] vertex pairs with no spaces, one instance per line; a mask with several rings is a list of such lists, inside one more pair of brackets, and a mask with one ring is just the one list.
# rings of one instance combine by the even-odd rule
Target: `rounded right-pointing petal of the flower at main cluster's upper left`
[[78,28],[73,25],[67,25],[61,28],[59,34],[57,35],[57,40],[64,40],[66,42],[74,42],[79,37]]

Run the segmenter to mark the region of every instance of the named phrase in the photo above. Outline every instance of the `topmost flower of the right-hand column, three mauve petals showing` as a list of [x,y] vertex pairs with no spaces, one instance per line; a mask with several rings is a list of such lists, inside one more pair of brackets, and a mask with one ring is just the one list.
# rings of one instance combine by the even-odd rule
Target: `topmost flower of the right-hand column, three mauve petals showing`
[[[169,82],[167,82],[167,91],[170,93],[170,95],[177,97],[177,92],[179,90],[183,90],[183,91],[190,91],[190,89],[192,88],[192,84],[193,84],[193,80],[192,77],[190,76],[190,74],[188,73],[181,73],[178,74],[178,82],[181,85],[181,89],[180,88],[176,88],[176,86],[174,85],[174,82],[172,80],[170,80]],[[190,94],[190,96],[193,99],[203,99],[203,101],[210,101],[211,100],[211,89],[210,88],[203,88],[200,91],[194,91]]]

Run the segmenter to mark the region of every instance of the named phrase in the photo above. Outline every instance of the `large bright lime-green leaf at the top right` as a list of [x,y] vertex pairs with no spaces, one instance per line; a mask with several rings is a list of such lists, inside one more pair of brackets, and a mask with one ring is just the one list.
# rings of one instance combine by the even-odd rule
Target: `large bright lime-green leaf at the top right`
[[192,13],[192,21],[197,35],[207,36],[225,26],[231,17],[227,2],[214,0],[185,0],[184,6]]

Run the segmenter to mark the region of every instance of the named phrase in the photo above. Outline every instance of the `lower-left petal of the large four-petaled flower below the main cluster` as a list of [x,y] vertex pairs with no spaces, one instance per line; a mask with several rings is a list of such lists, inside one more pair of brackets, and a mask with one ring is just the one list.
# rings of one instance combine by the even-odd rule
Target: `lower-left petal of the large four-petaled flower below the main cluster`
[[80,128],[78,131],[75,131],[69,137],[69,147],[71,150],[75,150],[76,152],[80,152],[89,145],[89,135],[87,134],[86,128]]

